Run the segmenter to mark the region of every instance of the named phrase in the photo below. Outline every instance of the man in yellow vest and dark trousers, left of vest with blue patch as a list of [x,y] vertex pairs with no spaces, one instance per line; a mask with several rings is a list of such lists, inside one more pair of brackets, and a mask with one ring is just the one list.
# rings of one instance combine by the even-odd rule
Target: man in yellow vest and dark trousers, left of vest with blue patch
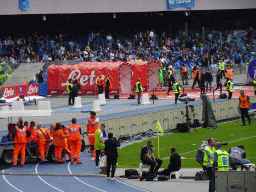
[[208,139],[208,145],[204,149],[204,159],[203,159],[203,167],[207,171],[207,175],[209,176],[209,192],[214,192],[215,183],[214,183],[214,172],[213,172],[213,157],[215,152],[215,140],[214,138]]

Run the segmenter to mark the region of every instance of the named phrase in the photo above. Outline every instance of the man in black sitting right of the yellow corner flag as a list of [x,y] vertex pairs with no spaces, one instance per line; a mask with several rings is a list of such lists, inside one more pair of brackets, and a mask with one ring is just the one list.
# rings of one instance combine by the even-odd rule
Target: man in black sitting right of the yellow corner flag
[[169,176],[171,172],[179,171],[181,168],[181,158],[180,155],[176,152],[174,147],[171,148],[172,155],[170,156],[170,164],[167,169],[164,169],[161,172],[158,172],[158,175]]

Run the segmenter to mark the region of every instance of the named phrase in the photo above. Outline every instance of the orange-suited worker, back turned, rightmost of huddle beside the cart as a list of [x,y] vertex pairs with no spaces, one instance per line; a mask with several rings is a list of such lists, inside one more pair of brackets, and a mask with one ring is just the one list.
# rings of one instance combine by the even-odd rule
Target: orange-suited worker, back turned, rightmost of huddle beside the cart
[[69,144],[70,144],[70,149],[71,149],[71,164],[75,163],[75,158],[76,158],[76,163],[77,164],[82,164],[80,161],[80,152],[81,152],[81,128],[80,125],[76,124],[76,118],[73,118],[71,120],[72,125],[68,127],[68,132],[70,134],[69,137]]

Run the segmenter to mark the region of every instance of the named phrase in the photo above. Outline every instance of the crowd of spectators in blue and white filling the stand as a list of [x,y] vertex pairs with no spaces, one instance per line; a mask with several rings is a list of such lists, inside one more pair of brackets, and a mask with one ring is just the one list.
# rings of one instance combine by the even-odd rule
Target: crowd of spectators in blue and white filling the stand
[[[192,34],[192,33],[190,33]],[[244,35],[239,42],[230,31],[222,40],[206,34],[205,40],[195,33],[189,37],[175,39],[148,30],[133,34],[88,34],[85,43],[67,39],[59,34],[55,37],[33,36],[19,38],[10,36],[0,39],[0,54],[3,64],[36,63],[46,61],[150,61],[162,63],[195,63],[202,66],[217,64],[220,58],[227,62],[245,63],[254,59],[256,40],[251,34]]]

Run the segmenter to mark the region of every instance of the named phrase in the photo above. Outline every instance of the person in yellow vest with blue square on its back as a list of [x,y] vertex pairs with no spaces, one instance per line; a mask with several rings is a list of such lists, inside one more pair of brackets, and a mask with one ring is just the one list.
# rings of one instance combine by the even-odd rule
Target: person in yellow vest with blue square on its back
[[221,149],[221,143],[216,142],[215,145],[215,152],[213,157],[213,189],[209,191],[215,191],[215,170],[218,171],[228,171],[229,170],[229,154],[227,151]]

